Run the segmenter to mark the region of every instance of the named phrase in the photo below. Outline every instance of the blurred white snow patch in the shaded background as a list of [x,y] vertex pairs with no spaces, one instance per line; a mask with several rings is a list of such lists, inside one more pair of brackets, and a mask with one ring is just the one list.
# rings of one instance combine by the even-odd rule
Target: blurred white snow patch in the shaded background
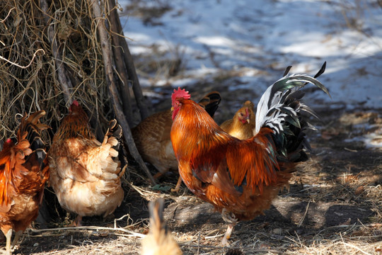
[[150,55],[151,45],[170,52],[178,47],[186,60],[186,79],[156,79],[156,84],[144,79],[144,85],[190,86],[224,69],[244,70],[238,77],[243,86],[255,84],[257,90],[265,91],[281,77],[279,70],[289,65],[293,65],[291,73],[314,75],[326,61],[319,80],[332,98],[322,91],[307,94],[308,98],[345,103],[348,109],[382,108],[382,7],[376,1],[138,1],[170,6],[163,16],[153,18],[158,26],[130,16],[126,7],[130,1],[119,3],[132,53]]

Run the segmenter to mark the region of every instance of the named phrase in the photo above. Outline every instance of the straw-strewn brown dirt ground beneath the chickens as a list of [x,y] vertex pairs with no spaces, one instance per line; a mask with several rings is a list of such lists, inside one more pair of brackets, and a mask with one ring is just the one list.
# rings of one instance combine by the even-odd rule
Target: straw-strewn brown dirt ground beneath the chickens
[[[220,89],[218,123],[237,109],[227,87],[203,84],[199,89],[200,95]],[[165,88],[163,94],[169,91]],[[168,100],[164,102],[163,106]],[[312,119],[318,132],[309,133],[310,159],[298,166],[289,191],[280,192],[265,215],[236,225],[231,248],[244,254],[381,254],[382,149],[369,148],[354,137],[380,132],[382,109],[315,110],[321,120]],[[378,139],[381,136],[372,142]],[[147,203],[158,197],[166,200],[165,218],[184,254],[225,254],[228,248],[219,243],[226,225],[212,205],[185,186],[171,193],[176,174],[159,181],[149,186],[144,173],[130,162],[121,207],[106,219],[85,217],[85,227],[79,228],[69,227],[74,215],[66,215],[48,190],[52,220],[28,229],[14,254],[139,254],[141,237],[148,232]]]

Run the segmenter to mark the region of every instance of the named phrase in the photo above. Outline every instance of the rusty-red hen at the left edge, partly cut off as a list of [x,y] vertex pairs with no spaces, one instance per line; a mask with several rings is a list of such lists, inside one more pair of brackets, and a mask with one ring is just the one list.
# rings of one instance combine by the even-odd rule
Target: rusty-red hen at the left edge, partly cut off
[[48,128],[39,119],[45,111],[37,111],[21,119],[17,142],[8,139],[0,152],[0,228],[6,236],[6,254],[11,254],[12,230],[16,232],[12,246],[23,231],[36,219],[49,179],[49,167],[41,130]]

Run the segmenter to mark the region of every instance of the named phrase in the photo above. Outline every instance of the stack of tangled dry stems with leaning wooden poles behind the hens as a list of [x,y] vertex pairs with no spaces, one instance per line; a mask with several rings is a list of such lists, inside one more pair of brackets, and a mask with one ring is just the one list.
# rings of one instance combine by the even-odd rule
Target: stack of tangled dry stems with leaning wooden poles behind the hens
[[76,99],[98,137],[117,118],[148,172],[131,147],[129,125],[148,112],[117,8],[115,0],[0,1],[0,141],[15,135],[19,113],[43,109],[49,145]]

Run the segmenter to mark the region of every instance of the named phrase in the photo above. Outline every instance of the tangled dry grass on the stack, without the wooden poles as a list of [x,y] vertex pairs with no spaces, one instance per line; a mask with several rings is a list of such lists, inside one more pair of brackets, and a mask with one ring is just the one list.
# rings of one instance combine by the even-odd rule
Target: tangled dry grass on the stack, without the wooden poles
[[[88,1],[55,0],[49,11],[45,24],[40,1],[0,2],[0,140],[14,135],[18,113],[43,109],[47,115],[42,121],[57,127],[67,108],[57,77],[62,67],[74,84],[68,91],[70,98],[80,101],[100,123],[106,124],[112,115]],[[52,50],[50,28],[62,62]]]

